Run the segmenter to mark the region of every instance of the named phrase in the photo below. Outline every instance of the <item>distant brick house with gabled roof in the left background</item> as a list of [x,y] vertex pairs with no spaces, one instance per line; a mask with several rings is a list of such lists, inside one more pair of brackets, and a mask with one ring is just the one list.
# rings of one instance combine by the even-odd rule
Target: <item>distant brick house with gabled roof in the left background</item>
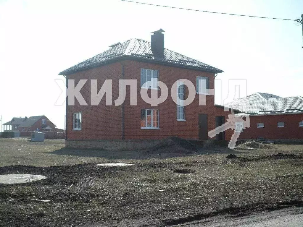
[[26,118],[17,128],[18,131],[36,131],[36,132],[54,132],[55,124],[52,123],[47,117],[33,116]]

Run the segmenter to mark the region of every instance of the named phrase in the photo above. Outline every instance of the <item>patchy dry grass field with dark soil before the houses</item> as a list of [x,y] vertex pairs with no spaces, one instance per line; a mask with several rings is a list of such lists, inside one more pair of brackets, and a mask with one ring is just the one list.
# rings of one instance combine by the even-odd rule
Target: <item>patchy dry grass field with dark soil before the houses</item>
[[[245,215],[266,206],[303,204],[303,145],[254,151],[213,147],[161,156],[63,146],[63,140],[0,139],[0,174],[48,177],[0,185],[0,226],[168,226],[221,212]],[[238,157],[228,159],[228,153]],[[100,162],[135,165],[97,167]]]

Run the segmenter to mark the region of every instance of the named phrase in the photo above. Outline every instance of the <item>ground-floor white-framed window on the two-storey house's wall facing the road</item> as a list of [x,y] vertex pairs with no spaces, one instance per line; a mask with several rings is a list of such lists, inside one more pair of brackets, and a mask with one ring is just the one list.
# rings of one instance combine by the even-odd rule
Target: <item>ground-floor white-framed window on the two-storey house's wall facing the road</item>
[[159,129],[159,111],[141,109],[141,129]]

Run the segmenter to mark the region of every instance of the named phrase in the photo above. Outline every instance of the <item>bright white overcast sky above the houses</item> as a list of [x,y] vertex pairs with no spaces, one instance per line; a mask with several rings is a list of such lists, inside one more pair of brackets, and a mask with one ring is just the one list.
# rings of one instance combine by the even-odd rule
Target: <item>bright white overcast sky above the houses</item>
[[[303,1],[137,0],[200,10],[297,19]],[[303,96],[302,27],[293,21],[247,18],[111,1],[0,0],[0,115],[46,115],[64,128],[55,106],[60,71],[129,38],[150,41],[165,30],[165,47],[246,79],[247,94]],[[216,100],[218,97],[216,97]]]

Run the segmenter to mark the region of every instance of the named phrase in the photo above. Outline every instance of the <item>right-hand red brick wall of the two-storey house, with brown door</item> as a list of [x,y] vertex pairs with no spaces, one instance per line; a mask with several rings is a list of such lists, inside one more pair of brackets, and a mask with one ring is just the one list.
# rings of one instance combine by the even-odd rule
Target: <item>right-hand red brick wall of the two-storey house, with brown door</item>
[[[177,121],[177,105],[172,100],[170,90],[172,84],[178,79],[188,79],[196,86],[196,77],[203,76],[209,78],[209,88],[214,88],[214,74],[188,70],[176,67],[168,67],[158,64],[149,64],[136,61],[125,61],[125,79],[138,79],[137,87],[140,88],[140,69],[154,69],[159,71],[158,78],[168,87],[169,95],[165,102],[158,107],[151,107],[145,103],[140,96],[138,89],[138,105],[130,106],[129,90],[126,92],[125,102],[125,139],[162,139],[170,136],[181,137],[186,139],[197,140],[198,136],[198,114],[206,113],[208,115],[208,131],[215,128],[215,117],[225,116],[227,119],[228,112],[214,106],[214,96],[206,96],[206,106],[199,106],[199,97],[196,95],[195,100],[185,107],[185,120]],[[160,92],[159,92],[160,93]],[[186,94],[185,94],[186,96]],[[159,110],[159,128],[141,129],[140,111],[144,108]],[[227,139],[229,134],[226,134]]]

